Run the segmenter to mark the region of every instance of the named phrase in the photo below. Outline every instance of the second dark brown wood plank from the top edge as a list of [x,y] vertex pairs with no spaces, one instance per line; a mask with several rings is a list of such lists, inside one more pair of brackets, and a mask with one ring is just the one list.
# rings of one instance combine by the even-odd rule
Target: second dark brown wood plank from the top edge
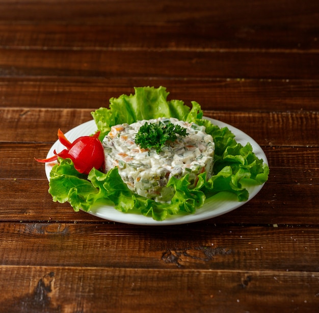
[[[228,8],[231,6],[228,5]],[[30,20],[15,23],[2,19],[0,47],[86,50],[151,48],[176,51],[266,49],[284,50],[287,53],[289,50],[319,50],[319,40],[315,35],[315,11],[303,15],[296,10],[289,17],[282,15],[275,20],[265,14],[259,17],[253,13],[243,16],[234,11],[228,16],[227,12],[221,15],[216,15],[216,12],[208,14],[215,16],[206,23],[197,20],[194,14],[188,20],[153,20],[144,24],[138,18],[129,25],[122,18],[117,21],[105,19],[105,23],[98,21],[97,24],[89,22],[86,25],[70,19],[62,22]],[[236,21],[231,19],[231,14],[236,14]]]

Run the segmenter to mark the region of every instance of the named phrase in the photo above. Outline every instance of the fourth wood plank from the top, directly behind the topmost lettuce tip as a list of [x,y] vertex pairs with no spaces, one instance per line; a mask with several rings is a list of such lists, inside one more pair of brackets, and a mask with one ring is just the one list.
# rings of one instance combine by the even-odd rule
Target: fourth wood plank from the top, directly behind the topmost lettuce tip
[[95,110],[111,97],[134,93],[133,86],[166,86],[169,99],[195,100],[203,110],[317,111],[319,98],[314,80],[0,77],[0,107]]

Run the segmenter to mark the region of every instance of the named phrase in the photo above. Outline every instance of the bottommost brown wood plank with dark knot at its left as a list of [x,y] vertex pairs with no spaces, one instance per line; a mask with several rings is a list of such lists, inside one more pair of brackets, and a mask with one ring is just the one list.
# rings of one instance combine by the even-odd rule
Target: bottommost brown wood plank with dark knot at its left
[[315,312],[318,273],[0,267],[7,312]]

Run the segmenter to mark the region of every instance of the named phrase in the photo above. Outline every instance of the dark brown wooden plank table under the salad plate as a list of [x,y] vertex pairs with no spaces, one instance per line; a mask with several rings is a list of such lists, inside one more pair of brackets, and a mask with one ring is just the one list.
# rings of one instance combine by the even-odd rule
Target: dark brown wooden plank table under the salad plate
[[[52,201],[44,157],[135,86],[264,150],[269,181],[202,222],[138,226]],[[1,312],[315,312],[319,2],[3,0]]]

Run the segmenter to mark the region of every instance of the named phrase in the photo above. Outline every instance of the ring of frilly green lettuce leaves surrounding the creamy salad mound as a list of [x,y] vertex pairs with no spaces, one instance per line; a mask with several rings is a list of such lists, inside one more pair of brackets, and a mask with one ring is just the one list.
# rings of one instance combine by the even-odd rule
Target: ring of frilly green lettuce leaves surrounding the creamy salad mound
[[[103,172],[102,167],[95,168],[94,165],[89,170],[79,171],[78,166],[74,166],[78,154],[73,153],[74,156],[70,153],[70,147],[75,142],[72,144],[63,137],[62,143],[68,151],[57,153],[54,157],[58,164],[50,172],[48,190],[52,199],[60,203],[69,202],[75,212],[88,212],[94,204],[104,202],[123,213],[142,214],[156,221],[163,221],[172,215],[195,213],[205,200],[221,192],[234,194],[238,201],[248,200],[249,192],[245,184],[262,185],[267,181],[268,165],[256,157],[250,143],[245,146],[237,143],[227,127],[220,128],[203,118],[199,103],[192,101],[189,107],[182,100],[167,100],[168,95],[165,87],[136,87],[135,94],[111,98],[109,108],[92,112],[98,130],[92,137],[102,142],[112,126],[161,117],[195,123],[204,126],[206,134],[214,140],[212,174],[200,173],[195,186],[191,184],[188,173],[179,179],[171,177],[167,183],[173,189],[171,200],[158,202],[130,190],[122,180],[118,167],[107,173]],[[81,141],[89,142],[86,138]]]

